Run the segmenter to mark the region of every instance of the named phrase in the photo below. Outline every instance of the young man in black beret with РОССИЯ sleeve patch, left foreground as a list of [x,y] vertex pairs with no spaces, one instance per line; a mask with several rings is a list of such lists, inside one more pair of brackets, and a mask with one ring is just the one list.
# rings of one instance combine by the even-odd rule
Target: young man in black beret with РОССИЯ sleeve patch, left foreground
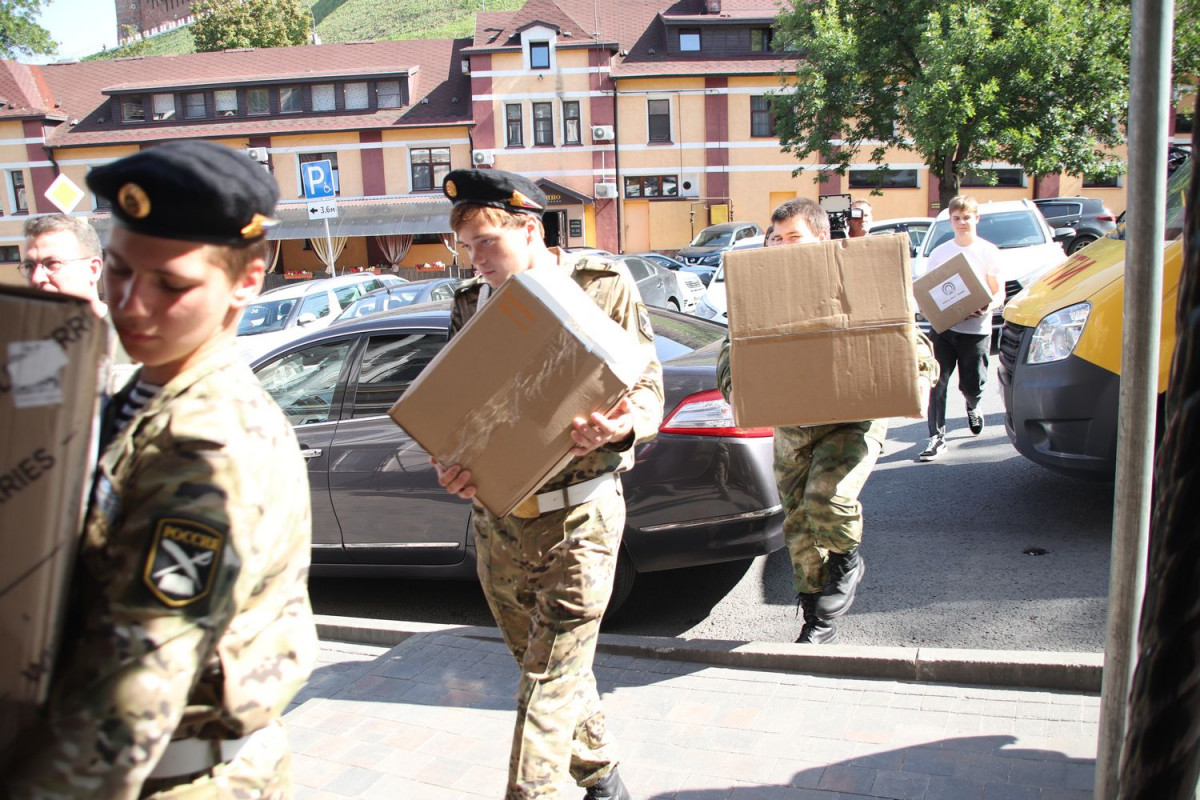
[[102,423],[66,645],[6,788],[289,798],[280,717],[317,644],[307,479],[234,347],[278,191],[235,150],[197,142],[88,184],[113,204],[106,293],[143,367]]

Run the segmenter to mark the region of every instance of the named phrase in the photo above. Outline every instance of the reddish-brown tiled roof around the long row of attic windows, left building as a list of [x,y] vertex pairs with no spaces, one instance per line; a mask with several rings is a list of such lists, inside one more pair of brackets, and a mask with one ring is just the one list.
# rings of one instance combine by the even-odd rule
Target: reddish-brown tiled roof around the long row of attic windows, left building
[[[241,137],[308,131],[384,128],[396,125],[463,124],[470,119],[470,82],[462,74],[462,48],[468,40],[416,40],[403,42],[362,42],[317,44],[226,53],[194,53],[115,61],[86,61],[26,67],[40,72],[56,110],[77,125],[59,126],[49,137],[53,146],[118,143],[143,143],[190,137]],[[0,90],[16,85],[11,62],[0,70]],[[24,66],[24,65],[18,65]],[[263,76],[320,77],[332,72],[352,76],[372,71],[380,74],[418,70],[410,80],[410,106],[378,112],[344,112],[317,115],[272,115],[256,119],[198,120],[188,124],[122,125],[112,120],[112,103],[102,94],[116,86],[196,85],[197,76],[205,84],[245,83]],[[6,78],[7,76],[7,78]],[[457,97],[457,102],[452,98]],[[422,102],[428,100],[427,103]],[[103,120],[103,121],[101,121]]]

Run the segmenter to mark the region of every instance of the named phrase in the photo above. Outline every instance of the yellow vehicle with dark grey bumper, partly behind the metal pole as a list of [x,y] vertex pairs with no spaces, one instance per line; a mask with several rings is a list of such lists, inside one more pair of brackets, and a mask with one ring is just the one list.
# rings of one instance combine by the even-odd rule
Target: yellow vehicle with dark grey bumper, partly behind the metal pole
[[[1159,408],[1175,350],[1190,160],[1166,186]],[[997,372],[1004,428],[1030,461],[1075,477],[1111,481],[1124,314],[1124,224],[1076,251],[1004,307]]]

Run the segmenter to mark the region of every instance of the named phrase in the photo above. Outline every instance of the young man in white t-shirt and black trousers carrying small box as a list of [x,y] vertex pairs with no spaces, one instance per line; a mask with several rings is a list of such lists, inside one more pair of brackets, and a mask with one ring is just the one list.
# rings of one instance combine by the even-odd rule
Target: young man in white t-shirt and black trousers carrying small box
[[950,375],[959,369],[959,391],[967,401],[967,425],[971,433],[983,431],[983,415],[977,407],[983,397],[983,385],[988,380],[988,351],[991,347],[991,309],[1004,297],[1001,278],[1000,248],[976,234],[979,225],[979,204],[970,194],[950,198],[950,227],[954,239],[938,245],[929,255],[929,269],[934,270],[962,253],[971,266],[988,283],[991,302],[953,327],[937,333],[929,332],[934,342],[934,356],[942,368],[942,375],[929,391],[929,443],[920,453],[920,461],[934,461],[946,450],[946,393]]

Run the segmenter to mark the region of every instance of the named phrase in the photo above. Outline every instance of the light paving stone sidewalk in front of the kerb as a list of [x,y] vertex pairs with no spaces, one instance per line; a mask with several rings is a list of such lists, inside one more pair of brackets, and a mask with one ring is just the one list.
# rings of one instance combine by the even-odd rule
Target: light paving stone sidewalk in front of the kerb
[[[599,654],[635,798],[1085,800],[1099,697]],[[298,800],[502,798],[517,669],[496,638],[325,642],[287,715]],[[576,800],[583,792],[563,787]]]

